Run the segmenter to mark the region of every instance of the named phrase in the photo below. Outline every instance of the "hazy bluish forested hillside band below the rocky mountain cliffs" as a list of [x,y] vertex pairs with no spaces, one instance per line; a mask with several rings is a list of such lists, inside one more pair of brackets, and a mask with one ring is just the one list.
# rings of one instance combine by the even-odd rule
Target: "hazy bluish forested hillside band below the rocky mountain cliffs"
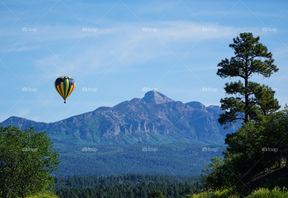
[[203,164],[222,155],[225,146],[171,143],[55,146],[55,149],[62,162],[54,176],[148,173],[190,177],[201,174]]

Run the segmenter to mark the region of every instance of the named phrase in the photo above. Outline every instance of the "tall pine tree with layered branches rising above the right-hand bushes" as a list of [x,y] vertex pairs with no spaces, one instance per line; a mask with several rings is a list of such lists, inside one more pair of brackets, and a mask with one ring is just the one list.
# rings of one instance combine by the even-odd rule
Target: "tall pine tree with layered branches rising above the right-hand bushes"
[[272,53],[259,43],[259,39],[253,37],[252,33],[240,33],[239,37],[233,38],[233,44],[229,45],[234,49],[235,56],[231,57],[230,61],[225,58],[217,65],[220,67],[217,75],[221,78],[240,77],[244,81],[225,84],[226,95],[234,96],[220,100],[225,113],[220,114],[218,122],[225,125],[224,128],[239,120],[244,123],[249,119],[259,121],[266,114],[280,108],[277,99],[274,98],[274,90],[249,81],[252,75],[267,78],[278,71],[277,66],[273,64]]

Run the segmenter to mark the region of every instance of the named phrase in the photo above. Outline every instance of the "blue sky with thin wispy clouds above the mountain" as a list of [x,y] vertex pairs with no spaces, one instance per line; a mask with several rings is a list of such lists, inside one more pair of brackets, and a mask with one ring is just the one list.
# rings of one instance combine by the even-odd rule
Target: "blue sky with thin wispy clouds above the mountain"
[[[287,1],[0,0],[0,122],[55,122],[143,98],[146,88],[220,105],[229,79],[216,75],[217,64],[233,56],[228,45],[241,32],[260,36],[273,53],[279,71],[251,80],[275,88],[283,107],[287,12]],[[59,76],[76,81],[66,104],[54,88]]]

